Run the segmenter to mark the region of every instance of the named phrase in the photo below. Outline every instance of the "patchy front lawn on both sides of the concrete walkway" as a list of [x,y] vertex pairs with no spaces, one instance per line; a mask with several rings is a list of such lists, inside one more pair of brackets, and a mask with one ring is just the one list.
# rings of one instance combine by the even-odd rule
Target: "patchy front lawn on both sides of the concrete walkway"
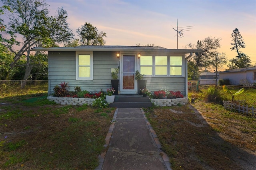
[[[256,152],[255,117],[207,103],[204,94],[190,93],[196,98],[191,107],[144,109],[172,169],[246,169],[237,155],[253,161],[243,148]],[[0,99],[9,103],[1,105],[0,169],[92,170],[98,166],[114,108],[56,105],[46,99],[46,91]]]

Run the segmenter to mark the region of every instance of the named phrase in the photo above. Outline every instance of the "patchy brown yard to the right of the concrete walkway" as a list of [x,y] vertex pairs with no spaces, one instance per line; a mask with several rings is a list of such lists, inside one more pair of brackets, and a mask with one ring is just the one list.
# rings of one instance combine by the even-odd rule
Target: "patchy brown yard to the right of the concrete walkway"
[[218,108],[214,110],[198,102],[148,110],[148,119],[172,169],[256,169],[256,119],[250,119],[253,126],[247,126],[248,132],[243,132],[246,121],[218,112]]

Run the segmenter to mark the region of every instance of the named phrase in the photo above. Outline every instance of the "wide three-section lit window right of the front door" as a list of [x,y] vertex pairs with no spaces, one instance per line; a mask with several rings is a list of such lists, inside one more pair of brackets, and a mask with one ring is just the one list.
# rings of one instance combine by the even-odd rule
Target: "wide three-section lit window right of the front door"
[[183,76],[182,56],[141,56],[140,73],[152,76]]

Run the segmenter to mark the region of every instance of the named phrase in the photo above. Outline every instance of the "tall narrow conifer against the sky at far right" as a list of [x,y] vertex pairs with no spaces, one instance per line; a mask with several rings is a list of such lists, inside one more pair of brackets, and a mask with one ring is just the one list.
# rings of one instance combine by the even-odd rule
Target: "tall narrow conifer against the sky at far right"
[[236,69],[236,68],[243,68],[243,67],[250,67],[251,59],[248,57],[245,53],[242,51],[239,51],[241,48],[245,48],[246,45],[244,43],[244,40],[242,38],[242,35],[240,34],[239,30],[235,28],[231,34],[231,38],[233,43],[230,43],[230,45],[233,45],[231,47],[232,50],[236,50],[237,56],[235,58],[230,59],[230,64],[228,64],[228,67],[230,69]]

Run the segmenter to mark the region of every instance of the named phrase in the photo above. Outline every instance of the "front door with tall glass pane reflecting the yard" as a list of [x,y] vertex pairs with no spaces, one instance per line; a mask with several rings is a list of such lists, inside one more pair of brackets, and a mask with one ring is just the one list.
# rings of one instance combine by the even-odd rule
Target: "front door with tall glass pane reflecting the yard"
[[120,93],[135,94],[135,55],[122,56],[121,91]]

